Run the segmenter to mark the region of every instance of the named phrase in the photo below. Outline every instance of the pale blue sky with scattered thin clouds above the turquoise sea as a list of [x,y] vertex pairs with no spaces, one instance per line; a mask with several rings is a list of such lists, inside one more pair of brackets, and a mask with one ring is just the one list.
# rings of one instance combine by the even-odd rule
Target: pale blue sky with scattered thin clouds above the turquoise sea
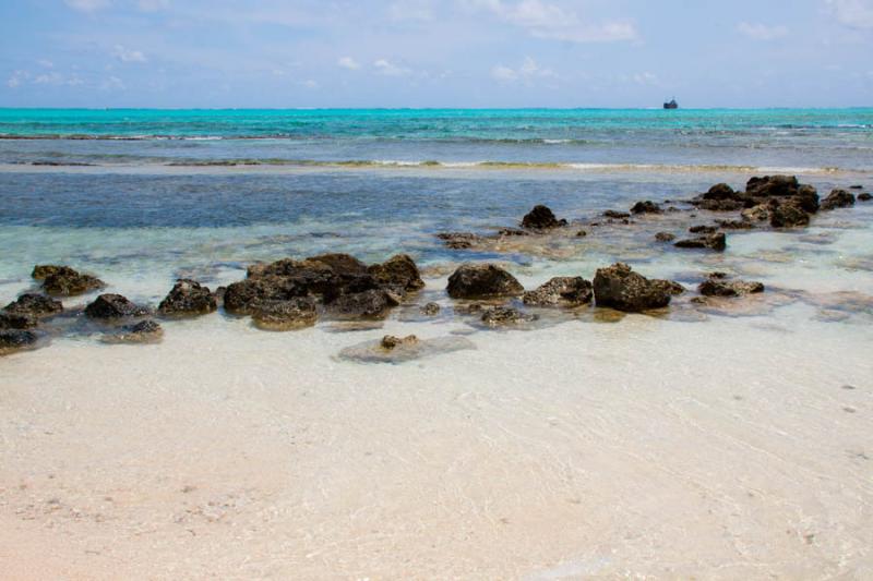
[[0,0],[0,107],[873,105],[873,0]]

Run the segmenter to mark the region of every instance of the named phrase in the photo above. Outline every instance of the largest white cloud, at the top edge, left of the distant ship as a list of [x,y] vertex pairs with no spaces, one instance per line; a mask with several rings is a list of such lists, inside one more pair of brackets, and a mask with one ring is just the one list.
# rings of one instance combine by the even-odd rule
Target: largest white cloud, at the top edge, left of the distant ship
[[535,38],[565,40],[569,43],[610,43],[635,40],[636,28],[626,21],[590,24],[575,12],[541,0],[521,0],[504,3],[502,0],[468,0],[467,5],[485,9],[500,19],[521,26]]

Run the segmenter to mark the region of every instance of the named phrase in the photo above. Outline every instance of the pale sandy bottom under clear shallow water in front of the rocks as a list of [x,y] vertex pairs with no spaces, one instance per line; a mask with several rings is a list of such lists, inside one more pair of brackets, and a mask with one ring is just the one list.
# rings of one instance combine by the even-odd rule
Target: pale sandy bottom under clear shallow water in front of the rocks
[[58,340],[2,361],[0,577],[870,579],[873,334],[813,314]]

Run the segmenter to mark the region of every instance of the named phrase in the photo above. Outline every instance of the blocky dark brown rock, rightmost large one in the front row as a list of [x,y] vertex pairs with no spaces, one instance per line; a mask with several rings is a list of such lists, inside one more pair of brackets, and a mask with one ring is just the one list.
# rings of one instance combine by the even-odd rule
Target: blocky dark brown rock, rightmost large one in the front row
[[663,285],[634,273],[623,263],[597,269],[594,295],[597,306],[618,311],[638,312],[670,304],[670,292]]

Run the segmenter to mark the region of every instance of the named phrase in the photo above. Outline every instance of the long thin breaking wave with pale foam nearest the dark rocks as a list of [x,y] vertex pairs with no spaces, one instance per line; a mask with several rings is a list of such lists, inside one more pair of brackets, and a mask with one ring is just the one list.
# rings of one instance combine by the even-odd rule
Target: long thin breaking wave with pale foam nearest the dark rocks
[[301,167],[301,168],[395,168],[395,169],[444,169],[444,170],[560,170],[581,172],[738,172],[738,173],[839,173],[865,172],[870,169],[840,168],[840,167],[784,167],[784,166],[752,166],[752,165],[722,165],[722,164],[593,164],[593,162],[564,162],[564,161],[438,161],[438,160],[399,160],[399,159],[346,159],[346,160],[315,160],[315,159],[208,159],[208,160],[179,160],[170,162],[147,164],[83,164],[74,161],[32,161],[16,165],[35,167],[174,167],[174,168],[234,168],[234,167]]

